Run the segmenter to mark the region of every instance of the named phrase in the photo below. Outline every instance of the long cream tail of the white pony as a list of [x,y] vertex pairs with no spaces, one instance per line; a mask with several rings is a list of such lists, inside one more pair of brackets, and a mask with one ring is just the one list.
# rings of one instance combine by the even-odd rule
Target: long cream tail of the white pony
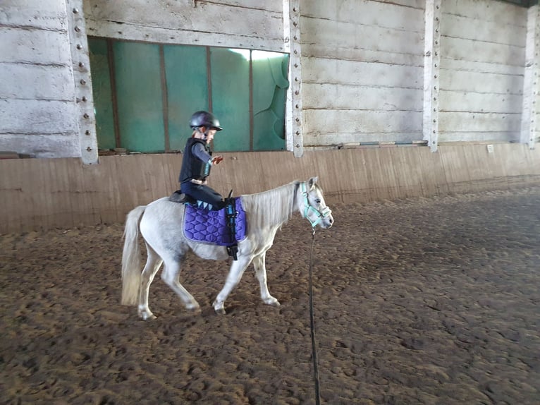
[[135,207],[125,219],[124,249],[122,253],[122,305],[137,304],[141,279],[139,222],[146,205]]

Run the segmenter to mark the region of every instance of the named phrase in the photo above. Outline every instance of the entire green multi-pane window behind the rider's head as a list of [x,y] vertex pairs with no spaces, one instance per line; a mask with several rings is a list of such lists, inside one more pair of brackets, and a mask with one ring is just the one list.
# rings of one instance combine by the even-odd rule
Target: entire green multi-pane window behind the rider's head
[[100,38],[89,45],[99,149],[183,150],[200,109],[224,128],[216,151],[285,149],[287,54]]

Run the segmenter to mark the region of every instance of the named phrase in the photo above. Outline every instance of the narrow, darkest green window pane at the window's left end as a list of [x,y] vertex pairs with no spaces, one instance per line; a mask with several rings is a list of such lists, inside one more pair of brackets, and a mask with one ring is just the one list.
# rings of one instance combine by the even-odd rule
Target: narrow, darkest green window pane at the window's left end
[[107,42],[101,38],[88,38],[90,66],[92,66],[92,94],[96,115],[97,146],[99,149],[114,149],[113,102]]

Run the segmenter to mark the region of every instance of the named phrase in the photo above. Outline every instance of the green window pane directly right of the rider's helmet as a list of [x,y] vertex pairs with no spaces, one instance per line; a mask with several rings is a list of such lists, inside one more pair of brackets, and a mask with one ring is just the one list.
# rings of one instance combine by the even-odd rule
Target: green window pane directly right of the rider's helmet
[[212,112],[223,126],[214,149],[250,150],[250,62],[230,49],[211,48],[210,66]]

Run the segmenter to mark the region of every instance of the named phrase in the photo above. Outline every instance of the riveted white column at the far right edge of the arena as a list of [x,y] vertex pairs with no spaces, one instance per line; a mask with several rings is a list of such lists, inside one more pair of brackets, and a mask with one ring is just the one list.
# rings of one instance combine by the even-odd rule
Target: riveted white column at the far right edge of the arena
[[538,128],[538,102],[540,82],[540,7],[527,11],[527,44],[525,45],[525,71],[523,79],[523,109],[520,142],[534,149]]

